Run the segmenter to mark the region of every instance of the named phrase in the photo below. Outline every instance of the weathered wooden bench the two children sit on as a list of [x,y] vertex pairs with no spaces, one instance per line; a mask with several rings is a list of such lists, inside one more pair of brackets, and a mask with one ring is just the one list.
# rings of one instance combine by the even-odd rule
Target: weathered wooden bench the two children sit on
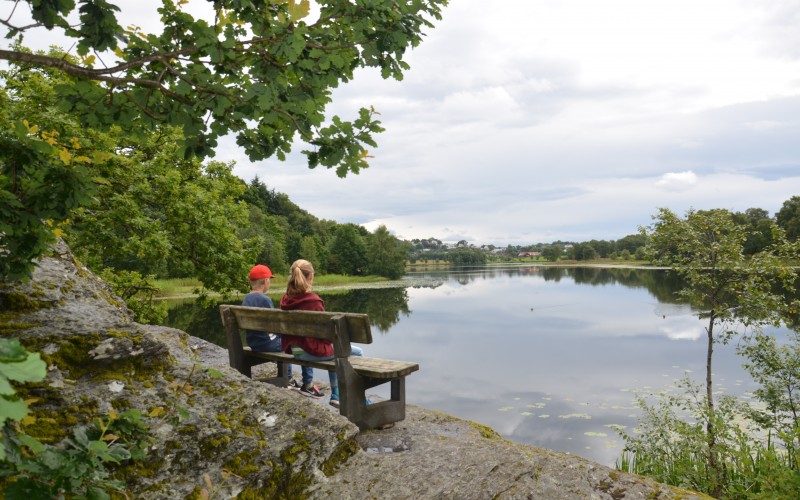
[[[366,314],[282,311],[261,307],[220,306],[222,324],[228,340],[230,364],[252,377],[255,365],[274,362],[276,377],[267,381],[279,387],[288,385],[288,365],[302,365],[336,371],[339,377],[339,413],[360,429],[376,429],[399,422],[406,417],[405,377],[419,369],[419,364],[406,361],[351,356],[350,343],[372,343],[372,331]],[[301,361],[281,352],[254,352],[242,343],[241,330],[313,337],[333,342],[334,359]],[[391,384],[387,401],[366,404],[366,391]]]

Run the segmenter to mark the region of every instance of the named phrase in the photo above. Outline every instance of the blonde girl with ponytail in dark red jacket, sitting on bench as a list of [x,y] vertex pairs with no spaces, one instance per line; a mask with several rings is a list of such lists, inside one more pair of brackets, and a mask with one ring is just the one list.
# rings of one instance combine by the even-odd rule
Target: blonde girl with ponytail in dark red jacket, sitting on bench
[[[281,309],[324,311],[325,303],[319,295],[311,291],[314,282],[314,267],[307,260],[294,261],[289,271],[289,282],[286,285],[286,294],[281,298]],[[316,361],[333,359],[333,343],[327,340],[309,337],[281,336],[281,348],[284,352],[293,354],[295,358]],[[351,346],[353,355],[361,356],[360,347]],[[331,405],[339,406],[339,380],[335,371],[329,371],[331,382]],[[312,375],[303,372],[303,385],[300,392],[308,396],[322,397],[322,392],[317,386],[312,385]]]

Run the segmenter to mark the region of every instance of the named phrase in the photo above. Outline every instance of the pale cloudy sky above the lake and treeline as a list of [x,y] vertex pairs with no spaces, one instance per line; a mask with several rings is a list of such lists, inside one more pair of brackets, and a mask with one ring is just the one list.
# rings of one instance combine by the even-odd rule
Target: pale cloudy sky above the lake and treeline
[[318,218],[475,245],[800,195],[800,0],[453,0],[435,24],[402,81],[361,70],[335,90],[330,116],[374,106],[386,129],[360,174],[309,170],[300,143],[251,162],[226,138],[215,160]]

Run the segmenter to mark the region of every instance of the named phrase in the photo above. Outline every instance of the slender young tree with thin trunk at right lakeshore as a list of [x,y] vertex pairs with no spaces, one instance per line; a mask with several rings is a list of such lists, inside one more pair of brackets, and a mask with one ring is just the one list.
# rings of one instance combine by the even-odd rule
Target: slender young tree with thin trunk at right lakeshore
[[726,464],[720,456],[720,420],[714,401],[714,346],[743,331],[781,323],[789,308],[781,290],[794,287],[796,270],[788,262],[796,259],[797,245],[787,243],[783,231],[773,224],[772,245],[747,255],[746,228],[735,223],[733,214],[719,209],[690,210],[680,218],[662,208],[642,233],[648,239],[650,260],[671,266],[681,275],[686,286],[679,296],[705,320],[705,397],[699,404],[704,406],[708,492],[720,497]]

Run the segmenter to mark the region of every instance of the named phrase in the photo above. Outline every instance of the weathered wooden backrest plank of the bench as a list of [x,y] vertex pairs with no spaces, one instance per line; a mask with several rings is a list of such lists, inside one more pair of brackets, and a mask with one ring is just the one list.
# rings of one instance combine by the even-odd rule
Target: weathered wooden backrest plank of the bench
[[[226,313],[226,311],[228,311]],[[337,341],[372,343],[369,316],[358,313],[283,311],[263,307],[220,306],[222,321],[228,328],[230,321],[242,330],[313,337]],[[233,325],[231,325],[233,326]]]

